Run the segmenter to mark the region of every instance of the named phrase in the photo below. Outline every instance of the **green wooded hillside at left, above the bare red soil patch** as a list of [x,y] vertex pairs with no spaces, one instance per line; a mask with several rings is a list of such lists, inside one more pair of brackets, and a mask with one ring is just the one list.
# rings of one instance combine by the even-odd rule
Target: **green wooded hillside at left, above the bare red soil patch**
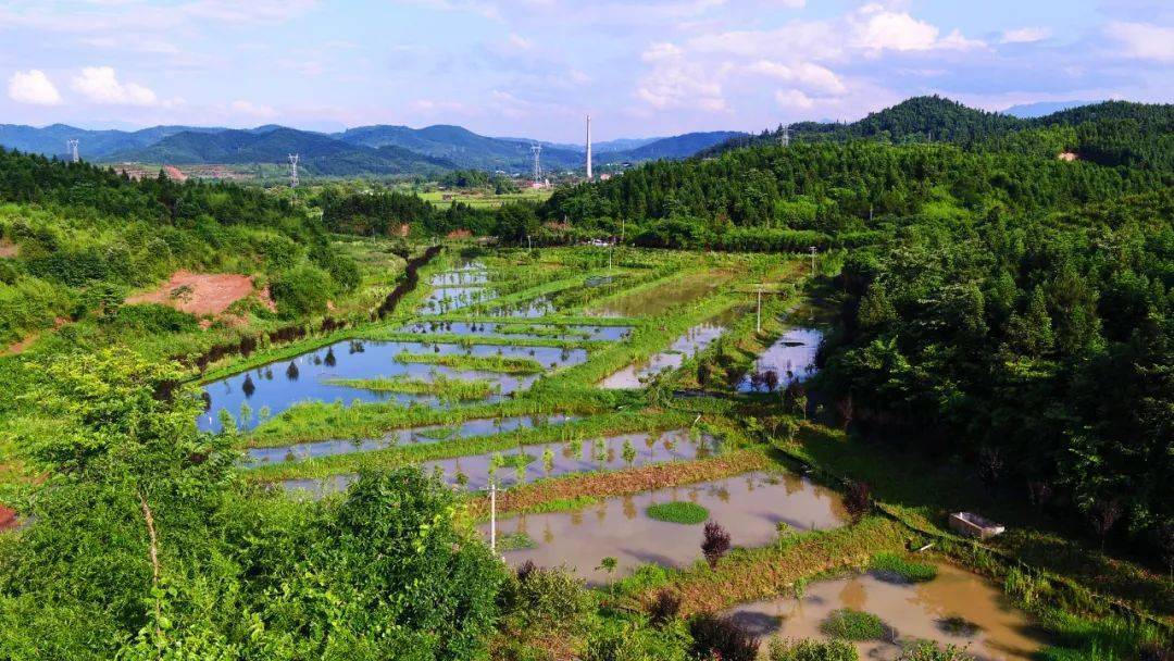
[[[258,189],[143,181],[0,150],[0,342],[113,309],[176,269],[288,279],[315,267],[326,294],[358,284],[303,209]],[[283,312],[305,306],[282,306]]]

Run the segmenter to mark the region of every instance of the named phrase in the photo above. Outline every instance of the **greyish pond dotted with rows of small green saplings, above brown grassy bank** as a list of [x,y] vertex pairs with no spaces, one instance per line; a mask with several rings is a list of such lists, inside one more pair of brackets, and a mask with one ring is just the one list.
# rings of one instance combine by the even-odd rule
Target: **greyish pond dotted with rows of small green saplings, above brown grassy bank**
[[[600,440],[602,443],[600,443]],[[527,445],[521,448],[506,450],[500,456],[506,465],[490,470],[493,457],[498,452],[468,454],[452,459],[425,461],[425,471],[439,471],[445,483],[465,490],[483,490],[493,480],[506,488],[518,484],[531,483],[541,478],[554,478],[572,473],[587,473],[646,466],[664,461],[688,460],[708,457],[717,451],[717,439],[708,434],[693,434],[687,430],[674,430],[654,433],[629,433],[606,437],[600,440],[585,439],[581,444],[548,443],[545,445]],[[625,443],[632,444],[635,454],[623,457]],[[549,470],[542,459],[546,450],[553,454]],[[519,454],[524,458],[518,460]],[[522,465],[521,474],[515,466]],[[310,491],[315,494],[345,490],[355,481],[355,474],[332,475],[323,480],[297,479],[285,480],[282,486],[290,491]],[[519,481],[520,478],[520,481]]]

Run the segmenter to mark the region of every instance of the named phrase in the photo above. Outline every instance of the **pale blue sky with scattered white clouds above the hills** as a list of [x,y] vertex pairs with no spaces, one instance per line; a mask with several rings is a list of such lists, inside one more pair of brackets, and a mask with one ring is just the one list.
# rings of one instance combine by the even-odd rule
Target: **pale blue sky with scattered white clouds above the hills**
[[457,123],[579,141],[1174,101],[1147,0],[0,0],[0,123],[337,130]]

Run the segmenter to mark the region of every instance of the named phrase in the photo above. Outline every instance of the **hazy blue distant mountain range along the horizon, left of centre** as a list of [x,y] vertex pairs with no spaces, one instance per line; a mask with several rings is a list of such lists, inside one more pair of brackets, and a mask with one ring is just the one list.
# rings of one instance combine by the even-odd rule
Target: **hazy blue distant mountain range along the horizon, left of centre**
[[[599,166],[654,158],[683,158],[700,149],[744,135],[735,131],[690,133],[672,137],[625,139],[593,146]],[[306,170],[322,176],[433,175],[459,168],[526,173],[532,146],[515,137],[488,137],[458,126],[420,129],[367,126],[342,133],[316,133],[266,124],[252,129],[160,126],[136,131],[86,130],[66,124],[45,128],[0,124],[0,146],[63,156],[67,140],[79,140],[82,157],[108,163],[249,164],[284,163],[299,154]],[[580,169],[581,144],[542,144],[549,170]]]

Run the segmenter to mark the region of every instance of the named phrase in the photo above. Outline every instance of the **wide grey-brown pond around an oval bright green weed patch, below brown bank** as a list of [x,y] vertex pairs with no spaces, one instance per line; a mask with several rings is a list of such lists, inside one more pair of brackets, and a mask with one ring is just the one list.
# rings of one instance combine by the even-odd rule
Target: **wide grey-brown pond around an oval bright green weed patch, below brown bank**
[[[498,522],[499,534],[526,533],[533,548],[508,551],[511,565],[533,560],[566,565],[591,582],[630,574],[647,562],[682,567],[701,559],[702,525],[648,518],[650,505],[686,500],[709,510],[709,519],[730,533],[734,546],[764,546],[777,539],[780,522],[798,528],[831,528],[845,520],[839,498],[791,473],[747,473],[716,481],[608,498],[576,512],[531,514]],[[488,526],[481,526],[488,535]],[[615,558],[616,569],[598,568]]]

